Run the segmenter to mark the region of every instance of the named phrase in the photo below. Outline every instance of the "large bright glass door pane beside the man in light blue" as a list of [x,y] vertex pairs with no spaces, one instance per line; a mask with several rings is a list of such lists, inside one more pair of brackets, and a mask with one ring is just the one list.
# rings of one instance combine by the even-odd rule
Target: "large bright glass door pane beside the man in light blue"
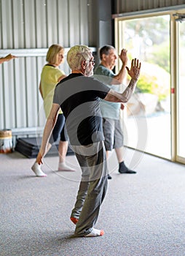
[[[125,146],[171,159],[170,15],[118,18],[116,26],[118,51],[127,48],[130,60],[138,58],[142,62],[135,94],[123,111]],[[183,87],[183,80],[181,84]],[[145,146],[138,143],[143,124]]]

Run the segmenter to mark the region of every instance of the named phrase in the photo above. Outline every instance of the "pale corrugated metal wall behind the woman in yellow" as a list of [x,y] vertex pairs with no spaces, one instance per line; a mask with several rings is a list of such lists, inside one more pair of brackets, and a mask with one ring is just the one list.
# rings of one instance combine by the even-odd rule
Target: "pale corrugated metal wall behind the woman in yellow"
[[92,0],[0,0],[0,57],[19,56],[0,65],[0,129],[44,125],[38,88],[47,49],[94,46],[92,10]]

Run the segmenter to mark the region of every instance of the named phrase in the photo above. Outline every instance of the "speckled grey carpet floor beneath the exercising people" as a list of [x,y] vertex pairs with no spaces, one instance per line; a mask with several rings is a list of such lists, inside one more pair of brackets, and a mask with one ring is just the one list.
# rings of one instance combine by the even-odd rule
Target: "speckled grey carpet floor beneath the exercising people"
[[[135,162],[135,159],[136,162]],[[127,150],[137,174],[119,174],[114,153],[112,180],[95,227],[105,235],[74,238],[69,217],[79,185],[74,173],[58,172],[58,157],[46,157],[46,178],[31,171],[34,159],[0,154],[1,256],[184,256],[185,166]]]

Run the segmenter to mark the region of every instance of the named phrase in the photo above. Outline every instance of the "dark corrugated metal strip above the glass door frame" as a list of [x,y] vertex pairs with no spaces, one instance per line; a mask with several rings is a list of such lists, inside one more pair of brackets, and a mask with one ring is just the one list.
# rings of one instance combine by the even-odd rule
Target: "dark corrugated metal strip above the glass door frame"
[[114,13],[137,12],[185,4],[184,0],[114,0]]

